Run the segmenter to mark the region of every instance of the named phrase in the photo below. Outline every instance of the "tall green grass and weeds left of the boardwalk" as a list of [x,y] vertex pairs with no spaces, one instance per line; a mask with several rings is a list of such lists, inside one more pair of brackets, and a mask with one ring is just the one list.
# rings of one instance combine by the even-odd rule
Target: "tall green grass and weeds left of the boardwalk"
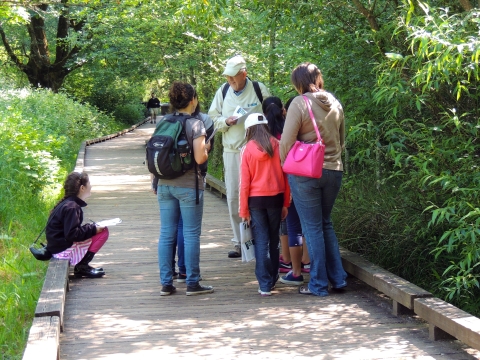
[[[28,247],[45,226],[80,144],[113,118],[47,90],[0,92],[0,354],[21,358],[48,263]],[[44,238],[44,237],[43,237]]]

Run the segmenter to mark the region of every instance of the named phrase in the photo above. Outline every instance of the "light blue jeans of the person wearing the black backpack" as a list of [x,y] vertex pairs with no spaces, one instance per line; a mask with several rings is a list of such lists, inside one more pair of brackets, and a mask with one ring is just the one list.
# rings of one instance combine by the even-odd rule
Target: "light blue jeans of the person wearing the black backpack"
[[199,190],[199,204],[195,203],[195,189],[169,185],[157,188],[160,205],[160,239],[158,260],[162,285],[173,283],[172,254],[177,240],[180,215],[185,239],[185,267],[187,286],[195,286],[200,276],[200,233],[203,215],[203,190]]

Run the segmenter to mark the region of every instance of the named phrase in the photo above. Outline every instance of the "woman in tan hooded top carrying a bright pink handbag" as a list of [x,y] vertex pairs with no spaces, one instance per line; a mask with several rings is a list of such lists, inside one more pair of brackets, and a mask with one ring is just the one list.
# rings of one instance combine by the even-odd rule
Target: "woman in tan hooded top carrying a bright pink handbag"
[[323,89],[322,73],[311,63],[298,65],[291,81],[300,96],[291,103],[280,158],[310,254],[310,281],[304,295],[328,295],[347,286],[331,213],[343,175],[345,122],[340,102]]

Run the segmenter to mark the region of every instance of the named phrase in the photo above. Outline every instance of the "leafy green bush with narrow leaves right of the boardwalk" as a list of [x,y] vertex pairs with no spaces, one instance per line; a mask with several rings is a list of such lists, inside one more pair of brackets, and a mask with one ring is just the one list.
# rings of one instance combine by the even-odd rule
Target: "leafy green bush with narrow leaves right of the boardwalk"
[[[475,314],[480,314],[479,16],[450,15],[422,3],[406,8],[402,19],[408,21],[399,22],[395,32],[405,38],[404,51],[386,54],[376,68],[373,100],[383,118],[353,126],[348,138],[356,175],[350,190],[358,193],[353,187],[362,174],[377,191],[390,193],[390,201],[415,209],[412,219],[406,212],[398,217],[386,204],[377,211],[395,216],[390,233],[398,233],[400,224],[413,226],[405,250],[425,256],[418,273],[426,268],[434,293]],[[401,234],[390,247],[407,239]],[[421,276],[411,276],[422,283]]]

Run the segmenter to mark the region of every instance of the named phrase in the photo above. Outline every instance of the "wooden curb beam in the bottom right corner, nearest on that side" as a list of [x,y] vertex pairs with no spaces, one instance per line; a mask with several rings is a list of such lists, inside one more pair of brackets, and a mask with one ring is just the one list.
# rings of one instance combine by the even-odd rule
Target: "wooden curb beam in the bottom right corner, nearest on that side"
[[[480,350],[480,319],[438,298],[415,299],[414,311],[446,333]],[[430,327],[430,337],[437,340],[436,329]]]

